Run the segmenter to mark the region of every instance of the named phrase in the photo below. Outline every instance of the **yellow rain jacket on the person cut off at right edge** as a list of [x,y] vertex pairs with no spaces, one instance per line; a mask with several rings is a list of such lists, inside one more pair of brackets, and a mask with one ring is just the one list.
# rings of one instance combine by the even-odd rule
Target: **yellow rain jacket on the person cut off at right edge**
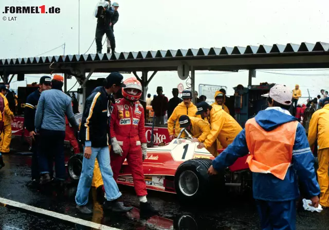
[[329,104],[313,113],[308,128],[308,143],[312,148],[318,139],[318,150],[329,148]]

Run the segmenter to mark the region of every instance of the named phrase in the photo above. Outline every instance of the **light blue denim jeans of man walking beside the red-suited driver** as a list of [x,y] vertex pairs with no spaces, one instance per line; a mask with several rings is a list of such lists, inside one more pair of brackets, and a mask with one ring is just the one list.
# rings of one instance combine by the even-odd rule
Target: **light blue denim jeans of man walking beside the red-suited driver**
[[84,157],[82,161],[82,172],[76,195],[76,203],[79,206],[83,206],[88,203],[88,195],[90,187],[92,186],[96,158],[104,182],[106,200],[116,200],[122,195],[116,181],[113,178],[113,172],[111,165],[109,164],[108,146],[102,148],[92,148],[92,156],[90,156],[90,159]]

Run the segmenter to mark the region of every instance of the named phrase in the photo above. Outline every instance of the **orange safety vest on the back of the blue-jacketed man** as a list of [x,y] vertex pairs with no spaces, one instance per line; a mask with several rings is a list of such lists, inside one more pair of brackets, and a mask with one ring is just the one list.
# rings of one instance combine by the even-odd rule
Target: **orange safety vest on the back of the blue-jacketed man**
[[254,173],[271,173],[283,180],[293,158],[298,121],[265,131],[254,118],[245,125],[250,155],[246,162]]

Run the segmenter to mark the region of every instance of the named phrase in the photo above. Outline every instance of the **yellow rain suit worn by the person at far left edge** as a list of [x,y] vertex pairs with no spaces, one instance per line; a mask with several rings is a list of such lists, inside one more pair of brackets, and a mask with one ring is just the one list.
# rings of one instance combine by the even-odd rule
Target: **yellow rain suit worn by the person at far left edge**
[[8,105],[8,100],[5,95],[0,93],[0,96],[4,98],[5,102],[5,116],[4,116],[4,121],[5,121],[5,126],[4,130],[1,133],[1,141],[0,141],[0,152],[1,153],[9,153],[9,145],[11,142],[11,117],[14,115]]

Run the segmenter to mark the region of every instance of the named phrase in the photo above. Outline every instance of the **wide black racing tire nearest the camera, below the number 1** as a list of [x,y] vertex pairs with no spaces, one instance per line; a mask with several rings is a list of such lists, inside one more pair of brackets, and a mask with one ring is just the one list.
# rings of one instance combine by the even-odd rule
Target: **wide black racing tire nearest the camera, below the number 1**
[[225,186],[223,172],[209,176],[210,159],[191,159],[181,163],[175,174],[175,190],[184,201],[196,201]]

